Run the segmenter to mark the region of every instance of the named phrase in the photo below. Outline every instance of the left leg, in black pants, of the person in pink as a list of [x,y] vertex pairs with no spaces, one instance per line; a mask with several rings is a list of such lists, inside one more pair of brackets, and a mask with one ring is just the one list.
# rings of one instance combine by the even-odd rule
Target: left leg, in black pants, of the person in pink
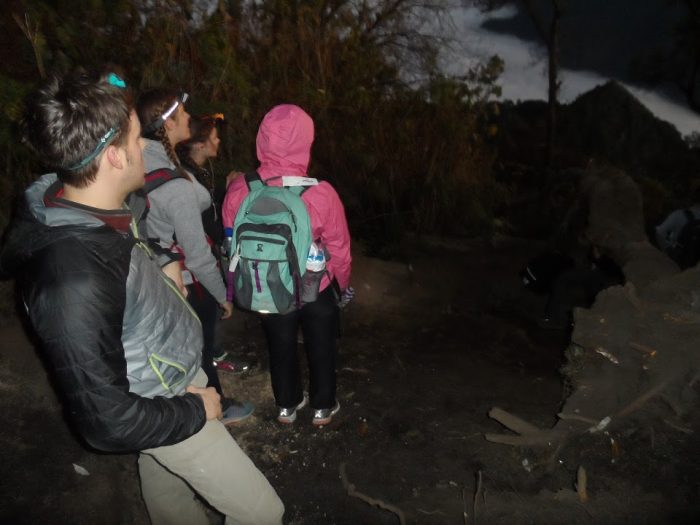
[[270,354],[270,381],[277,406],[296,407],[303,399],[297,357],[299,312],[262,316]]

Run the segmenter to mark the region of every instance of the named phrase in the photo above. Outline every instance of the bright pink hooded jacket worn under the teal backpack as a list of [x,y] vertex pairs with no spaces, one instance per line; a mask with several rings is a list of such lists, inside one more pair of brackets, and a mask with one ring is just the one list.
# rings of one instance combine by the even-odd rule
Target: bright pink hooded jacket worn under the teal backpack
[[[314,122],[299,106],[282,104],[272,108],[263,118],[257,136],[257,151],[260,167],[258,173],[263,181],[272,177],[295,175],[305,177],[311,158],[314,141]],[[281,179],[270,181],[281,185]],[[240,176],[229,184],[222,215],[224,227],[230,228],[236,213],[248,195],[245,178]],[[327,269],[344,290],[350,284],[350,232],[345,219],[345,209],[337,192],[328,182],[319,182],[301,196],[311,219],[314,240],[320,239],[330,253]],[[321,289],[330,280],[324,277]],[[229,287],[229,299],[231,288]]]

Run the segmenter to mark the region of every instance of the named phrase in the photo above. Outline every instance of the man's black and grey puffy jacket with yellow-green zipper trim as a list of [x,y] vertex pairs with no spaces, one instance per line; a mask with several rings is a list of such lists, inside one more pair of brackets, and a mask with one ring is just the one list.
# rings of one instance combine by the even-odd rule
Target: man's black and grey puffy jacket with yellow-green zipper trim
[[199,368],[199,320],[132,234],[79,207],[44,206],[55,187],[45,175],[27,190],[0,274],[17,278],[69,418],[104,451],[188,438],[206,421],[199,396],[184,393]]

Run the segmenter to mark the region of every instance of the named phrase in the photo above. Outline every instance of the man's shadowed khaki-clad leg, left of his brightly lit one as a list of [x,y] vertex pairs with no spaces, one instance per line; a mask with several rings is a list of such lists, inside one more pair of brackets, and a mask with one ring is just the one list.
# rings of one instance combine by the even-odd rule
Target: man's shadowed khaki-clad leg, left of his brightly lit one
[[141,494],[153,525],[209,525],[202,504],[182,478],[149,454],[139,454]]

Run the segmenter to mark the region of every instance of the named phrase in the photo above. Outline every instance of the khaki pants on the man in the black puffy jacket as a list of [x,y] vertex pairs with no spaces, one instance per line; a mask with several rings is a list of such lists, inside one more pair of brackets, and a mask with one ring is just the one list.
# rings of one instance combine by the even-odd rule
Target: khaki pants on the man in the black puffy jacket
[[[200,370],[192,384],[206,384]],[[284,505],[219,421],[175,445],[142,450],[141,491],[153,525],[209,525],[199,494],[226,525],[279,525]]]

